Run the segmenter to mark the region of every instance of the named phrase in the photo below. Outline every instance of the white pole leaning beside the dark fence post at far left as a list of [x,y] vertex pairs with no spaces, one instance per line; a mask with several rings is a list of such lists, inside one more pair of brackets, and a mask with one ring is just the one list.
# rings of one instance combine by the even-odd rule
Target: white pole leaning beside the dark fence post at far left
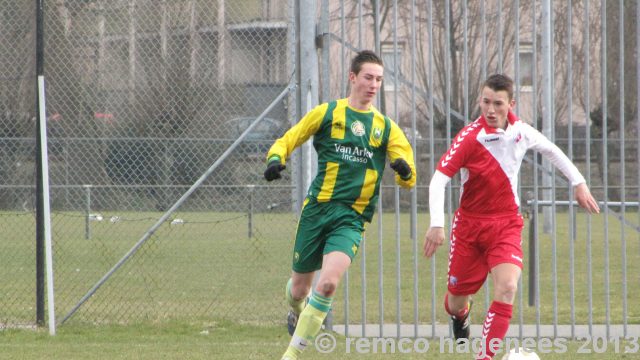
[[40,156],[42,158],[42,197],[44,213],[45,262],[47,272],[47,308],[49,310],[49,334],[56,334],[55,303],[53,300],[53,255],[51,247],[51,208],[49,206],[49,159],[47,152],[47,113],[44,96],[44,76],[38,76],[38,100],[40,121]]

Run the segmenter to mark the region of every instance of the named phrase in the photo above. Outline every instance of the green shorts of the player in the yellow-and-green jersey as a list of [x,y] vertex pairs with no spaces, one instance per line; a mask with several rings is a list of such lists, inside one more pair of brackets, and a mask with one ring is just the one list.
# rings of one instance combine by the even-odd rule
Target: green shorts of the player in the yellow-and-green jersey
[[351,207],[305,199],[293,247],[293,271],[319,270],[323,255],[333,251],[340,251],[353,260],[363,233],[364,220]]

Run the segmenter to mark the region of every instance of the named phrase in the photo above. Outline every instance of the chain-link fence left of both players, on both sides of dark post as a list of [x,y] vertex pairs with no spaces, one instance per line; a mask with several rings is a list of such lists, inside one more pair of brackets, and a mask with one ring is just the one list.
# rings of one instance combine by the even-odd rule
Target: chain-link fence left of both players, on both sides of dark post
[[[59,319],[287,88],[291,6],[46,2]],[[35,322],[36,9],[34,1],[3,1],[2,9],[1,322],[15,326]],[[288,103],[287,97],[276,103],[71,319],[251,321],[246,314],[257,304],[282,306],[252,289],[286,280],[286,262],[278,262],[281,269],[273,263],[289,253],[292,190],[287,182],[265,187],[262,171],[266,150],[289,126]]]

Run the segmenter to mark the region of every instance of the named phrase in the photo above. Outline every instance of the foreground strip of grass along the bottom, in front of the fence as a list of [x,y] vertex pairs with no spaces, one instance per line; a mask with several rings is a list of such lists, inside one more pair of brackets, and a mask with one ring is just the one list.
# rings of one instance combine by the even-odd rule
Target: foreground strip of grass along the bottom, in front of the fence
[[[346,341],[337,337],[338,346],[330,353],[320,353],[309,347],[304,359],[471,359],[473,356],[445,347],[440,353],[437,341],[416,347],[420,353],[359,353],[352,344],[347,352]],[[4,330],[0,332],[2,359],[279,359],[288,343],[282,326],[238,325],[230,322],[206,324],[164,323],[161,325],[129,326],[66,326],[55,337],[46,331]],[[608,351],[583,342],[569,342],[566,349],[539,355],[542,359],[636,359],[635,343],[621,341],[616,348],[609,343]],[[373,349],[373,348],[370,348]],[[381,349],[381,348],[379,348]],[[389,348],[390,349],[390,348]],[[405,348],[406,349],[406,348]],[[551,349],[551,348],[549,348]],[[625,353],[625,350],[629,351]],[[551,351],[551,350],[550,350]],[[583,353],[584,352],[584,353]]]

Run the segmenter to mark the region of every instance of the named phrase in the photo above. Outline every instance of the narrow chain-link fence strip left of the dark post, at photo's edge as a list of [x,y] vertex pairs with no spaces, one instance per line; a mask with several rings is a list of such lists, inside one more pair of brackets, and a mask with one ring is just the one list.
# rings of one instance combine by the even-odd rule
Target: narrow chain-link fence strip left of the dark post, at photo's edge
[[2,325],[35,323],[35,3],[0,5]]

